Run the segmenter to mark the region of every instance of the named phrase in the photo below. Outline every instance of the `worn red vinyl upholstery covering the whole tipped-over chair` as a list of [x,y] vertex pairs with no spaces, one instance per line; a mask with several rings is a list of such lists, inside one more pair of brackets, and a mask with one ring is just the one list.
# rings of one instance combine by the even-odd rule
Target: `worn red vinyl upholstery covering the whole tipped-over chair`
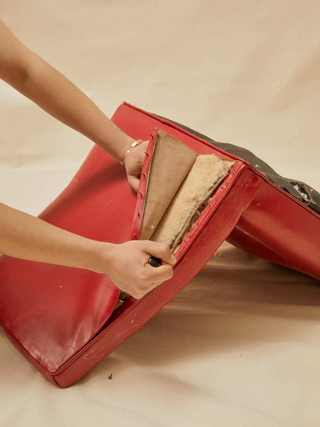
[[[234,158],[237,167],[215,190],[201,223],[181,245],[174,276],[113,312],[119,290],[108,276],[2,256],[1,327],[52,383],[66,387],[148,321],[204,266],[225,240],[245,251],[320,279],[320,216],[243,159],[167,120],[122,104],[113,122],[135,139],[154,128],[199,154]],[[139,195],[138,195],[139,197]],[[125,169],[95,146],[67,188],[39,217],[90,239],[130,239],[137,195]]]

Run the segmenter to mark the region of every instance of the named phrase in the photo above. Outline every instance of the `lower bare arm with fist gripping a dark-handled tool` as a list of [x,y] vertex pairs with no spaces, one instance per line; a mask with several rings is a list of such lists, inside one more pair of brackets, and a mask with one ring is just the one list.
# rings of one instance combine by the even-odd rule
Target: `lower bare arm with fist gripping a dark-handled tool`
[[[119,245],[97,242],[0,203],[0,251],[25,260],[78,267],[107,274],[122,291],[141,298],[172,277],[169,246],[148,240]],[[161,258],[158,268],[150,256]]]

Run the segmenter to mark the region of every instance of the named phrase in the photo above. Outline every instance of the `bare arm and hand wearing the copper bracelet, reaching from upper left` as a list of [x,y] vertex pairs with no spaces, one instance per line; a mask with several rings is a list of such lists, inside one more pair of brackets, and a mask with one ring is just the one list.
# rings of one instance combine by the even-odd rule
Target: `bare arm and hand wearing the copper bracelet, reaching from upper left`
[[[27,49],[0,20],[0,78],[44,111],[70,126],[121,161],[134,139],[122,132],[73,83]],[[125,168],[138,190],[147,142],[130,151]]]

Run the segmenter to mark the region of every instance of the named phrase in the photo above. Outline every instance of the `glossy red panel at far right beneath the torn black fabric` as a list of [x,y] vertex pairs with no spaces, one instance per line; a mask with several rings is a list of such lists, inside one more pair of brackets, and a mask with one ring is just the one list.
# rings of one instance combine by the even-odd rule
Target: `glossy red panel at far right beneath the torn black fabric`
[[264,182],[227,237],[233,246],[320,280],[317,213]]

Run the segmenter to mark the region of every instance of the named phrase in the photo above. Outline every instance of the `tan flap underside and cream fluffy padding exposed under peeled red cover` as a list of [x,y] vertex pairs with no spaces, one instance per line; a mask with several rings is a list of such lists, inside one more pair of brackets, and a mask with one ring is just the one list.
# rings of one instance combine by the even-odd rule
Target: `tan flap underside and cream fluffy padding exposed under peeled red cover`
[[166,243],[173,251],[197,211],[209,200],[234,161],[198,155],[158,130],[146,189],[140,240]]

